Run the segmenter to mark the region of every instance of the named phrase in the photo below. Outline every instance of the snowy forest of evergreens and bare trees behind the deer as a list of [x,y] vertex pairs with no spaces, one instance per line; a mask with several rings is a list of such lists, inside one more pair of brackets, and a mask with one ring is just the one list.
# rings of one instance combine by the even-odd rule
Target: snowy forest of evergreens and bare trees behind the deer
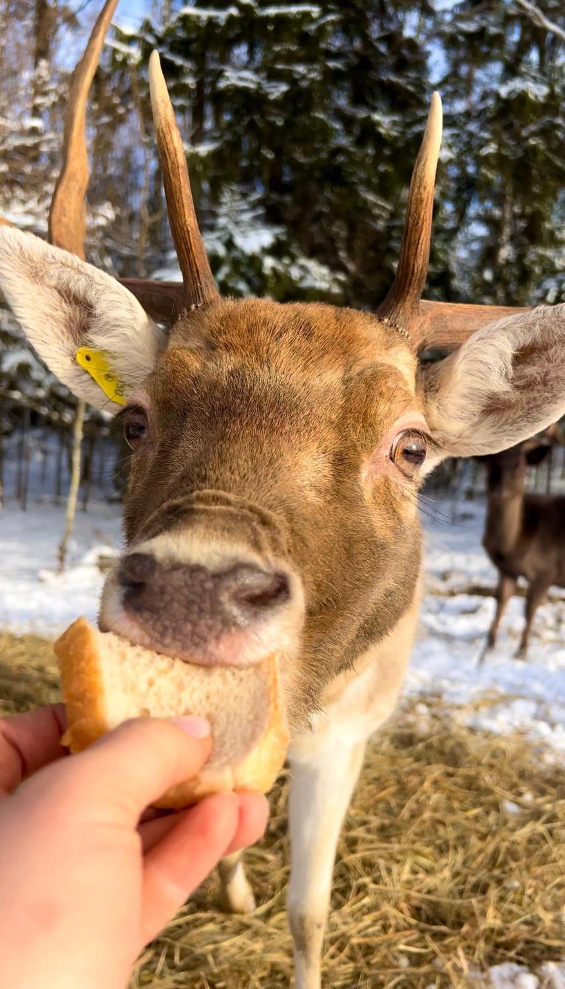
[[[41,235],[69,75],[99,7],[0,0],[0,214]],[[180,278],[150,118],[154,47],[222,293],[374,309],[437,88],[427,297],[565,300],[562,0],[124,0],[91,90],[87,258],[123,276]],[[0,350],[0,464],[16,437],[25,459],[37,426],[68,446],[74,400],[5,309]],[[87,441],[107,434],[89,409]]]

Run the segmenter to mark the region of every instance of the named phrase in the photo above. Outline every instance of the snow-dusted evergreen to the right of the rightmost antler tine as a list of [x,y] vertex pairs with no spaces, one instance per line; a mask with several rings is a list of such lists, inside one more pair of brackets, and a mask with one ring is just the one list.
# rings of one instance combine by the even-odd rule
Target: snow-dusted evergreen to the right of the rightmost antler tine
[[[562,17],[559,0],[546,0],[544,10]],[[500,0],[457,4],[445,15],[443,43],[459,289],[485,303],[558,302],[565,298],[564,46]]]

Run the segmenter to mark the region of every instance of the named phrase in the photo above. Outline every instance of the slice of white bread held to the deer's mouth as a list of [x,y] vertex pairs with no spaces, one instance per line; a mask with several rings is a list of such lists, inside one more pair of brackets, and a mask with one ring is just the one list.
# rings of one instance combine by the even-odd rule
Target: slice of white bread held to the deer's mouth
[[202,667],[132,646],[78,618],[54,645],[68,729],[63,744],[80,752],[128,718],[205,716],[212,751],[194,779],[156,804],[180,808],[210,793],[266,793],[284,762],[288,732],[279,663]]

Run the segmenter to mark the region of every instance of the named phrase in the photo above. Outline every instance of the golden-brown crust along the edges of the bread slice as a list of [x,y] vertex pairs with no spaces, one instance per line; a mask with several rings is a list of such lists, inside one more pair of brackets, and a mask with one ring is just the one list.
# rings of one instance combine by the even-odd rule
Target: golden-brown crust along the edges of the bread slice
[[[77,618],[53,647],[59,661],[68,721],[62,742],[72,753],[81,752],[96,742],[109,727],[99,660],[98,636],[101,634],[86,618]],[[284,762],[288,729],[278,657],[270,656],[264,662],[267,664],[270,716],[253,749],[235,765],[221,768],[204,765],[193,779],[167,790],[156,801],[156,807],[180,810],[212,793],[230,790],[266,793],[271,789]]]

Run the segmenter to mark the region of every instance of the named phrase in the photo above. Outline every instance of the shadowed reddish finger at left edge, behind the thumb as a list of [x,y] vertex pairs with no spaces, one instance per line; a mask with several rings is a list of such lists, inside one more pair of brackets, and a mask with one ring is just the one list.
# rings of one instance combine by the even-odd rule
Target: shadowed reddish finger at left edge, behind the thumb
[[63,704],[0,718],[0,793],[10,793],[26,776],[64,755]]

